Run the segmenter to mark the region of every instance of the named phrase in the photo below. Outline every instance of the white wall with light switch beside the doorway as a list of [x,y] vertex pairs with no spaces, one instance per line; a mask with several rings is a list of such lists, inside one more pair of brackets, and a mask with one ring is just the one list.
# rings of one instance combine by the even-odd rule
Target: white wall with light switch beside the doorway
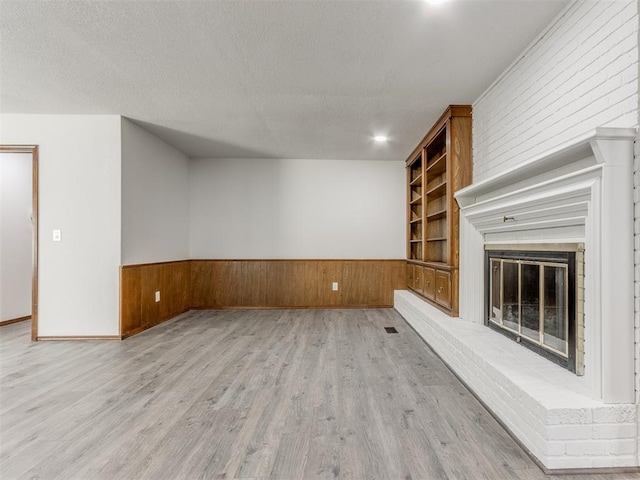
[[120,117],[0,115],[0,143],[40,147],[38,334],[117,335]]

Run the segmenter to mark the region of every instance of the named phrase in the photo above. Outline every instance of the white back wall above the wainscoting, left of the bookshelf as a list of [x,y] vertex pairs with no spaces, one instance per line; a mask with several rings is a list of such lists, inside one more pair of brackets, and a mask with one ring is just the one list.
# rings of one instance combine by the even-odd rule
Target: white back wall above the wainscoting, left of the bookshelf
[[192,258],[404,258],[395,161],[191,160]]

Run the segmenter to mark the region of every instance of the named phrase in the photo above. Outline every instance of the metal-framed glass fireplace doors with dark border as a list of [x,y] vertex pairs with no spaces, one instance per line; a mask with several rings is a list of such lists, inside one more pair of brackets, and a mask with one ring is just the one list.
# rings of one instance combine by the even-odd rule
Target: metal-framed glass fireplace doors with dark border
[[580,375],[576,252],[487,248],[485,279],[485,325]]

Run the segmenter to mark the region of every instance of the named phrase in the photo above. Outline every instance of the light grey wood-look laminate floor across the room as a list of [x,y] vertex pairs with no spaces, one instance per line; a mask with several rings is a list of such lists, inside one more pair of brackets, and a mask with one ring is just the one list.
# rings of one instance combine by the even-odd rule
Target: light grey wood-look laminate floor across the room
[[0,329],[3,480],[551,478],[392,309],[193,311],[123,342],[29,328]]

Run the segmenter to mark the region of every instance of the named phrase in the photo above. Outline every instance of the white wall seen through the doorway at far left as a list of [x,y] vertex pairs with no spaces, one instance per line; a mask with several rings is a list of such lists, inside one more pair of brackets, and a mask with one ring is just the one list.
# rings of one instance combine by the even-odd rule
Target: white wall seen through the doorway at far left
[[31,315],[32,161],[0,152],[0,320]]

